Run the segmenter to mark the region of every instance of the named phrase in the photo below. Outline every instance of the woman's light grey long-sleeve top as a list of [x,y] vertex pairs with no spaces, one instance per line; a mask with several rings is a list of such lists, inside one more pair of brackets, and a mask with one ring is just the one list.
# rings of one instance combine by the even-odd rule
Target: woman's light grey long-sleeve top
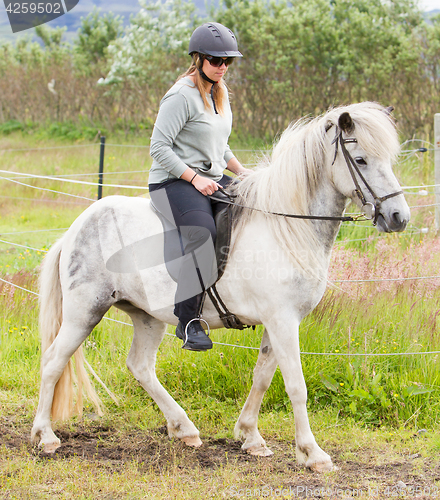
[[188,167],[215,181],[221,179],[234,157],[228,146],[231,107],[228,100],[224,114],[219,115],[209,95],[208,102],[211,109],[205,109],[189,77],[176,82],[162,98],[150,143],[150,184],[178,178]]

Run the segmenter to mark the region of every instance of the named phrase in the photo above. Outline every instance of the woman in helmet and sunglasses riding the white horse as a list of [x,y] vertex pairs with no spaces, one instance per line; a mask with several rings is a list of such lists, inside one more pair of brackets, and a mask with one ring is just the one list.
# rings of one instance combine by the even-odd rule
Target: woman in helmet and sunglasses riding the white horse
[[[204,290],[215,282],[214,217],[224,206],[208,198],[245,169],[231,152],[232,113],[223,76],[242,57],[231,30],[206,23],[191,36],[192,64],[163,97],[151,137],[151,200],[170,214],[185,257],[181,260],[174,299],[176,328],[184,348],[206,351],[212,341],[198,319]],[[165,215],[166,216],[166,215]],[[197,252],[197,249],[203,251]]]

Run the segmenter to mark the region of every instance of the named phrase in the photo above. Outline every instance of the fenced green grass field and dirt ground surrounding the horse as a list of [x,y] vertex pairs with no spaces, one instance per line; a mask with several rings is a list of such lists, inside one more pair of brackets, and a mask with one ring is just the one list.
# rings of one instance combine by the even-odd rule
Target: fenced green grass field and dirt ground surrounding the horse
[[[252,148],[235,149],[243,163],[255,162],[247,151]],[[3,170],[96,182],[99,145],[16,134],[0,138],[0,158]],[[143,195],[148,166],[144,147],[107,146],[105,182],[140,188],[104,188],[104,195]],[[413,157],[398,170],[403,184],[433,183],[429,156]],[[0,278],[37,292],[45,251],[96,199],[96,187],[23,177],[14,179],[59,193],[0,179]],[[301,325],[302,351],[332,354],[302,360],[312,429],[338,471],[318,475],[297,466],[279,370],[260,419],[276,453],[262,459],[242,452],[232,430],[257,351],[224,345],[204,355],[182,351],[172,328],[160,348],[158,376],[205,445],[190,450],[169,441],[159,409],[125,368],[131,327],[107,320],[86,341],[86,357],[119,406],[96,384],[105,416],[98,418],[86,403],[82,420],[56,424],[63,446],[55,457],[44,455],[29,444],[39,387],[37,297],[0,282],[0,498],[316,498],[320,488],[329,498],[341,497],[338,488],[347,497],[358,491],[366,498],[440,498],[438,355],[381,356],[440,351],[439,280],[409,279],[440,274],[433,207],[422,207],[434,196],[407,199],[414,209],[403,234],[379,235],[366,223],[342,227],[330,273],[334,285]],[[340,281],[372,278],[382,281]],[[408,279],[391,281],[397,278]],[[129,322],[116,310],[108,316]],[[261,335],[262,328],[217,330],[213,340],[258,347]]]

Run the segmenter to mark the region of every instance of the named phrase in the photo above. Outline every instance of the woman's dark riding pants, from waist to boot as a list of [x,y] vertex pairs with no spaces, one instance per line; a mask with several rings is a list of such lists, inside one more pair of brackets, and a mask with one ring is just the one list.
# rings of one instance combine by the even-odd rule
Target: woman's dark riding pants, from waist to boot
[[[224,175],[219,184],[225,187],[232,181]],[[154,206],[177,228],[176,241],[167,244],[180,245],[181,249],[174,314],[186,325],[196,317],[204,290],[216,281],[214,219],[226,205],[204,196],[182,179],[150,184],[149,188]]]

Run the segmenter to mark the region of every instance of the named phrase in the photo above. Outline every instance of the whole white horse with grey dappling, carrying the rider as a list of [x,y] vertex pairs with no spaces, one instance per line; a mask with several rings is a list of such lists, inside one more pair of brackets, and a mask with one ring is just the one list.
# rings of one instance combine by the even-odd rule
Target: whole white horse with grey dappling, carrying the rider
[[[333,467],[309,426],[298,327],[326,289],[331,249],[348,200],[363,206],[364,211],[376,209],[374,222],[379,231],[402,231],[408,223],[409,208],[392,172],[399,143],[389,115],[390,110],[378,104],[361,103],[300,120],[281,136],[270,162],[234,188],[237,204],[258,210],[233,208],[240,218],[233,228],[229,261],[217,289],[243,323],[265,326],[252,389],[235,426],[237,437],[244,438],[242,448],[252,454],[272,454],[258,432],[257,419],[279,365],[294,412],[297,460],[313,470]],[[268,212],[327,219],[288,218]],[[137,242],[162,234],[148,199],[109,196],[80,215],[47,254],[40,304],[44,354],[32,429],[33,442],[39,441],[45,451],[60,446],[51,427],[51,412],[56,419],[67,418],[73,410],[69,360],[75,353],[78,411],[82,409],[83,383],[99,408],[84,369],[81,344],[111,306],[127,312],[133,321],[127,366],[164,413],[169,435],[190,446],[202,444],[199,431],[155,373],[166,325],[177,324],[172,312],[176,283],[163,257],[160,260],[163,239],[158,237],[154,245],[146,245],[142,265],[138,262],[133,267],[132,260],[120,272],[106,266],[118,251],[124,253]],[[135,254],[132,259],[137,258]],[[222,327],[208,299],[203,317],[211,328]]]

